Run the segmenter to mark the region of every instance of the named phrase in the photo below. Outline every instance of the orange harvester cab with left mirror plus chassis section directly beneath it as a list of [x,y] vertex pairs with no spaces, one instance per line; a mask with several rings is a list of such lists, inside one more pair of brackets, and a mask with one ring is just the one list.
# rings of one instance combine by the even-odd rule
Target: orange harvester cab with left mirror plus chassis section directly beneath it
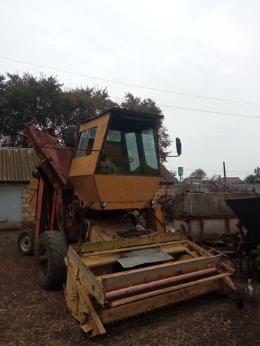
[[77,200],[70,212],[84,209],[85,239],[164,233],[162,207],[153,200],[160,182],[155,115],[112,109],[68,128],[65,144],[75,148],[68,180]]

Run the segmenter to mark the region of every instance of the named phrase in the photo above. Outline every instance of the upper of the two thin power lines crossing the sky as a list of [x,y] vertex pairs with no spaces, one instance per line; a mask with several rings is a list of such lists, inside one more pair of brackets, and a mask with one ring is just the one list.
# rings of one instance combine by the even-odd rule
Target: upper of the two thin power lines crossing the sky
[[123,81],[115,81],[113,79],[105,79],[105,78],[101,78],[101,77],[97,77],[97,76],[90,76],[89,74],[82,74],[82,73],[67,71],[65,69],[58,69],[56,67],[48,67],[48,66],[45,66],[45,65],[34,64],[32,62],[25,62],[25,61],[22,61],[22,60],[16,60],[16,59],[12,59],[12,58],[6,58],[6,57],[1,57],[0,56],[0,59],[8,60],[8,61],[13,61],[13,62],[19,62],[20,64],[31,65],[31,66],[34,66],[34,67],[42,67],[44,69],[52,69],[53,71],[64,72],[64,73],[67,73],[67,74],[74,74],[76,76],[84,76],[86,78],[97,79],[99,81],[108,81],[109,83],[121,84],[121,85],[124,85],[124,86],[133,86],[134,88],[142,88],[142,89],[147,89],[147,90],[152,90],[152,91],[160,91],[161,93],[171,93],[171,94],[174,94],[174,95],[189,96],[189,97],[192,97],[192,98],[202,98],[202,99],[206,99],[206,100],[215,100],[215,101],[233,102],[233,103],[244,104],[244,105],[260,106],[260,103],[257,103],[257,102],[230,100],[230,99],[226,99],[226,98],[213,98],[213,97],[210,97],[210,96],[195,95],[195,94],[191,94],[191,93],[181,93],[181,92],[178,92],[178,91],[169,91],[169,90],[160,89],[160,88],[152,88],[150,86],[141,86],[141,85],[138,85],[138,84],[130,84],[130,83],[126,83],[126,82],[123,82]]

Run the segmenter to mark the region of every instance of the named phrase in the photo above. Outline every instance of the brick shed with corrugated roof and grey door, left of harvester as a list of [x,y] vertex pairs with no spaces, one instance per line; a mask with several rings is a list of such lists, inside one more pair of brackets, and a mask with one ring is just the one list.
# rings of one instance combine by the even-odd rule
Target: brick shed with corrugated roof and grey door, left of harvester
[[0,229],[20,229],[34,222],[28,204],[35,164],[33,149],[0,147]]

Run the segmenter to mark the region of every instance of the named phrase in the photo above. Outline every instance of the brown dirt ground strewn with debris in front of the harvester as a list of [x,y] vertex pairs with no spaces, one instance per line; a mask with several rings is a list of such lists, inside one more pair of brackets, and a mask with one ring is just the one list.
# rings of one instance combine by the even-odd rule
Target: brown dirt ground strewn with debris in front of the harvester
[[[34,258],[20,255],[18,231],[0,232],[0,345],[260,345],[257,304],[235,305],[235,295],[207,295],[108,326],[86,338],[67,311],[63,291],[37,286]],[[246,277],[247,274],[244,274]],[[236,278],[242,287],[245,279]]]

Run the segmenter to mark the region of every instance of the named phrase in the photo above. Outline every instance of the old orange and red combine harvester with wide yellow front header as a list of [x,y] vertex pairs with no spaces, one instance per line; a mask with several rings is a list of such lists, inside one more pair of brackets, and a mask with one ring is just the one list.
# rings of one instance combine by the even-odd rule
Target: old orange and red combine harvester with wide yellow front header
[[[25,134],[39,164],[34,239],[23,232],[20,249],[34,248],[42,288],[56,288],[67,274],[67,306],[86,333],[235,289],[224,255],[197,246],[186,232],[167,232],[162,206],[153,201],[160,182],[157,117],[111,109],[69,126],[65,147],[34,126]],[[179,155],[178,138],[176,146]]]

